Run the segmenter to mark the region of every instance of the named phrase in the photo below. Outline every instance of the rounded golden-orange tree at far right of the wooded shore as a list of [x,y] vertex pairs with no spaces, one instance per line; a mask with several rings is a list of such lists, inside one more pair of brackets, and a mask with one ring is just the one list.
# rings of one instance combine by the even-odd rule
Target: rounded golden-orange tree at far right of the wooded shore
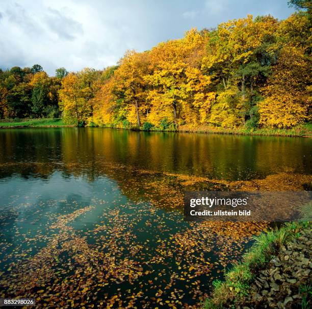
[[302,49],[283,47],[272,75],[262,89],[260,124],[290,128],[307,120],[310,98],[310,60]]

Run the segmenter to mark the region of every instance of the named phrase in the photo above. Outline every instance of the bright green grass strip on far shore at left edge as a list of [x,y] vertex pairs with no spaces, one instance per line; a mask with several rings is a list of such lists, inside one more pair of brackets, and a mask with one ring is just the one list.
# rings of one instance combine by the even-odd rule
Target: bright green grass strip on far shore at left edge
[[59,118],[40,118],[40,119],[18,119],[8,122],[0,122],[0,128],[19,128],[19,127],[63,127],[67,126]]

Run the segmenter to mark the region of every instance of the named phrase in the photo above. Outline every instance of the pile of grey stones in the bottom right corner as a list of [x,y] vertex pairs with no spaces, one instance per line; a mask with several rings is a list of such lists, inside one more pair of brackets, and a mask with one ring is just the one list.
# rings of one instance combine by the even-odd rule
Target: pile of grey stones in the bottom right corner
[[312,256],[312,230],[301,232],[305,235],[301,240],[293,238],[282,246],[279,258],[272,257],[269,268],[258,272],[250,285],[252,293],[246,297],[240,309],[247,309],[248,306],[280,309],[300,306],[299,286],[305,285],[312,274],[312,261],[309,258]]

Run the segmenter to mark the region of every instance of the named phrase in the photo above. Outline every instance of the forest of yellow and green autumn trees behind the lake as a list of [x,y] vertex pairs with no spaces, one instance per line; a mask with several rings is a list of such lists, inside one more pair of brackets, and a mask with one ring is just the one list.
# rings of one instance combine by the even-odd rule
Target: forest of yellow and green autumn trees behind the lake
[[311,120],[311,4],[191,29],[116,66],[79,72],[0,70],[0,118],[62,118],[76,126],[175,130],[292,128]]

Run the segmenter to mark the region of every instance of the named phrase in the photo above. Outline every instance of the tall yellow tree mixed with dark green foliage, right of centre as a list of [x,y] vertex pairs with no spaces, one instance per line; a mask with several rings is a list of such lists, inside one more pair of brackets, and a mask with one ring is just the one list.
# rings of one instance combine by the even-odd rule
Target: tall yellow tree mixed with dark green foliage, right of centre
[[252,117],[256,87],[266,80],[274,62],[277,25],[271,16],[253,19],[248,15],[221,23],[208,33],[202,69],[210,74],[218,92],[210,123],[238,126]]

